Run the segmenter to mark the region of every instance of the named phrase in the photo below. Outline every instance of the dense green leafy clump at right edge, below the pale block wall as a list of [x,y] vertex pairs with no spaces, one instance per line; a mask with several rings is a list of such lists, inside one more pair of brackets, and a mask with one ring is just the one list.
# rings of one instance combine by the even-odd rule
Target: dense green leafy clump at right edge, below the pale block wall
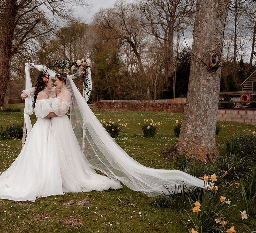
[[238,157],[251,155],[256,152],[256,134],[234,135],[225,141],[227,155],[235,154]]

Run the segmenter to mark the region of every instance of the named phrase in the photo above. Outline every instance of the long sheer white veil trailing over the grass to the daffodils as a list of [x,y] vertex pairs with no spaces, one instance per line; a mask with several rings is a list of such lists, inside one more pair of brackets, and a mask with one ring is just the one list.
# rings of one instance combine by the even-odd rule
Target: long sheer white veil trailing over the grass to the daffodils
[[[37,69],[43,66],[32,64]],[[49,71],[49,69],[47,68]],[[72,96],[70,121],[79,145],[94,169],[100,170],[112,179],[119,180],[132,190],[148,196],[168,194],[166,187],[175,192],[177,185],[184,188],[205,187],[199,178],[179,170],[154,169],[143,166],[131,158],[108,134],[97,119],[72,78],[78,77],[80,71],[68,76],[67,85]],[[54,78],[55,72],[50,71]],[[26,77],[27,78],[27,77]],[[27,88],[27,86],[26,86]],[[146,152],[146,151],[145,151]]]

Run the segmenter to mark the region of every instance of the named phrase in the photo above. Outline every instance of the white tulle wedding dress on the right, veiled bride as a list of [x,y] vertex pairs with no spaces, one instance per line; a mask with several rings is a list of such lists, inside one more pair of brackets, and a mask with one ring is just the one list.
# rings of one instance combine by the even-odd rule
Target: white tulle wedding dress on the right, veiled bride
[[63,192],[90,192],[121,188],[119,181],[97,174],[83,156],[66,115],[69,107],[70,103],[60,102],[59,96],[52,100],[52,109],[58,115],[51,118],[52,136],[59,158]]

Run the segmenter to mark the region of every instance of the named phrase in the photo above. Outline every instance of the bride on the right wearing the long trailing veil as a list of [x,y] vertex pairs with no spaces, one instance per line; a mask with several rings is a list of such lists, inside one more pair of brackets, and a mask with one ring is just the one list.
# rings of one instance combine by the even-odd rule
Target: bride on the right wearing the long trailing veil
[[[45,66],[32,65],[37,69],[48,69]],[[58,116],[51,118],[52,129],[54,128],[51,132],[54,135],[55,146],[59,150],[59,160],[63,160],[60,161],[63,190],[83,191],[84,183],[87,181],[88,167],[100,170],[116,182],[119,180],[130,189],[143,192],[148,196],[168,194],[168,189],[179,192],[183,188],[187,190],[207,186],[203,180],[185,172],[153,169],[135,161],[108,134],[76,88],[72,78],[78,77],[78,72],[81,70],[72,76],[65,74],[56,76],[56,73],[50,69],[48,72],[52,78],[55,77],[56,86],[61,89],[58,96],[52,100],[53,111]],[[26,78],[29,77],[26,76]],[[69,107],[70,121],[65,116]],[[74,151],[76,152],[73,153]],[[82,165],[79,166],[79,171],[74,173],[78,161]],[[72,176],[65,176],[65,174],[72,174]]]

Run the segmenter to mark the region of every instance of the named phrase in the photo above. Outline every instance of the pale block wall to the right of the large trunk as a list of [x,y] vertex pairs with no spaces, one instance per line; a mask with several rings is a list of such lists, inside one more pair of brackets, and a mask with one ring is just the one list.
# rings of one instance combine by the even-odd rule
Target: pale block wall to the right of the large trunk
[[256,123],[256,109],[219,109],[217,120]]

